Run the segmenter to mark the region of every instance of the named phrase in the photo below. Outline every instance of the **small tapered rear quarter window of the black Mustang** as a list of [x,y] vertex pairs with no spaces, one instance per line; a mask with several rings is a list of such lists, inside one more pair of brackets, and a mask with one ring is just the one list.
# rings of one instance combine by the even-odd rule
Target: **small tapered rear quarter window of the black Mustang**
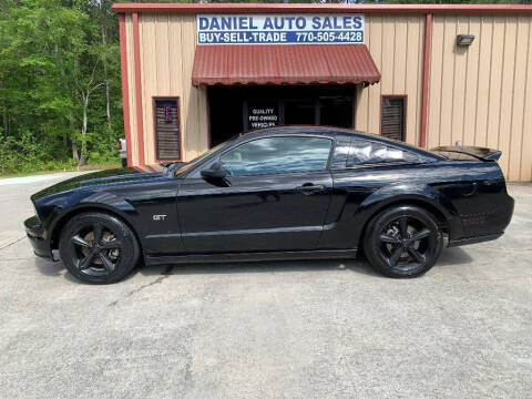
[[354,140],[347,158],[347,166],[416,161],[418,161],[418,157],[408,151],[402,151],[371,141]]

